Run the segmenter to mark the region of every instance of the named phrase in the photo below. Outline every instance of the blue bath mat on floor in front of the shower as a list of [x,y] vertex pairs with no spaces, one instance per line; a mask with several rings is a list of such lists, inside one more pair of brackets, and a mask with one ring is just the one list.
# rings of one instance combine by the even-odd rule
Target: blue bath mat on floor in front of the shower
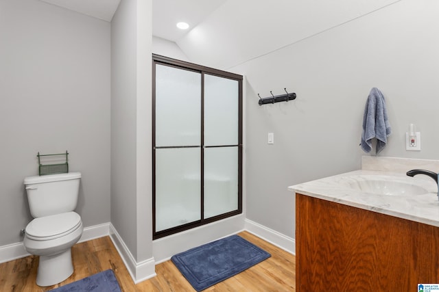
[[176,254],[171,260],[192,287],[202,291],[270,256],[246,239],[232,235]]

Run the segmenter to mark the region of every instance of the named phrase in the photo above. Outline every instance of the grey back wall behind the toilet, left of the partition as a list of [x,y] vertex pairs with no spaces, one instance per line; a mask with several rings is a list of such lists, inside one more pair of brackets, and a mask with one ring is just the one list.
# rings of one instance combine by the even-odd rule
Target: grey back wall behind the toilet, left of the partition
[[110,221],[110,24],[36,0],[0,1],[0,246],[32,220],[39,151],[69,150],[84,226]]

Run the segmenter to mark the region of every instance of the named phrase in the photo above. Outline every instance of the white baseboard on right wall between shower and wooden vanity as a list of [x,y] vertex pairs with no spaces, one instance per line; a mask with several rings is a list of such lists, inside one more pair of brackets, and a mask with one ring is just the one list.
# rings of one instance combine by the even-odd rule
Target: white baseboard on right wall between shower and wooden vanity
[[290,254],[296,254],[296,241],[293,238],[248,219],[245,220],[245,226],[249,233],[276,245]]

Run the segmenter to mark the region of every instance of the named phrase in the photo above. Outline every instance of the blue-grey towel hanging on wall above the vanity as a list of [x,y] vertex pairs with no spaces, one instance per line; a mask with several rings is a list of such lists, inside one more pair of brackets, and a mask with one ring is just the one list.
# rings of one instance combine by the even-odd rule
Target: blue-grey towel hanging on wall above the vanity
[[363,116],[363,133],[361,149],[369,153],[372,150],[372,139],[377,138],[377,154],[383,150],[387,137],[392,133],[385,108],[384,96],[378,88],[372,88],[366,101]]

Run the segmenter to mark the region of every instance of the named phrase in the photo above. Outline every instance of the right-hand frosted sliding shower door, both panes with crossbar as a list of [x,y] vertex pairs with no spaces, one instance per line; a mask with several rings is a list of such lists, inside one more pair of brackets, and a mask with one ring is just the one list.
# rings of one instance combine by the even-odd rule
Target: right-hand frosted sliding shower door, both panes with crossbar
[[204,75],[204,218],[238,207],[239,83]]

